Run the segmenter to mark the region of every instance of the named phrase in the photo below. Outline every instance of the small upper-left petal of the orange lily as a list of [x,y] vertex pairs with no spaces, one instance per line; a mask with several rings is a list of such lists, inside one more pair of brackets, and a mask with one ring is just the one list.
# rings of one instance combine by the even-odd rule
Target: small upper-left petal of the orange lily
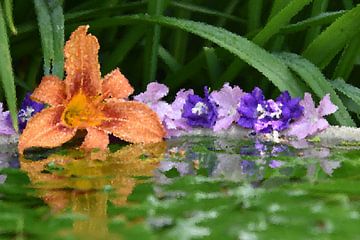
[[52,106],[63,104],[66,99],[65,83],[56,76],[44,76],[31,98]]

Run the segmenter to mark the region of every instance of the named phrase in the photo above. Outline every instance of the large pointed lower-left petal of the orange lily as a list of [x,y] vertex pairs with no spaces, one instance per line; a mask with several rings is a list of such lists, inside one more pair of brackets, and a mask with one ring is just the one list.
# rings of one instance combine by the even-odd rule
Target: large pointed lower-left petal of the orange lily
[[60,123],[64,108],[47,108],[30,119],[19,139],[20,154],[30,147],[58,147],[75,136],[76,129],[67,128]]

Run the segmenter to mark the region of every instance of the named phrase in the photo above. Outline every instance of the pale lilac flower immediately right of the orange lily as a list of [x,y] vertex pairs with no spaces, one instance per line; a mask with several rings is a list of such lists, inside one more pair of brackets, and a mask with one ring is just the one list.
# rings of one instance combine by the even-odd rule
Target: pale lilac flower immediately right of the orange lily
[[147,104],[152,110],[154,110],[161,121],[171,111],[170,105],[161,101],[169,93],[169,88],[161,83],[151,82],[147,85],[146,91],[134,96],[136,101]]

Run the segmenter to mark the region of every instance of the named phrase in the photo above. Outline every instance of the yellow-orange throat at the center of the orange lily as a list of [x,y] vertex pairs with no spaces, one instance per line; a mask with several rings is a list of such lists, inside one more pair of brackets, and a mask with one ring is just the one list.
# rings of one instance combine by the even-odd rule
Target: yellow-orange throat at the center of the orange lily
[[70,100],[61,116],[62,122],[72,128],[95,127],[103,119],[104,115],[99,107],[81,92]]

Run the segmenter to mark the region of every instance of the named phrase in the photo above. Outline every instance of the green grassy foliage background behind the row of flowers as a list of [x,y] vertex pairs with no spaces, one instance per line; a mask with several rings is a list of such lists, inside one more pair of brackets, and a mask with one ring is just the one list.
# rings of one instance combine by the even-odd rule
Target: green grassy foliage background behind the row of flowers
[[[63,45],[89,24],[105,75],[119,67],[137,92],[261,87],[268,97],[326,93],[333,124],[359,124],[360,5],[342,0],[1,0],[0,101],[17,108],[44,74],[63,77]],[[18,99],[18,101],[16,101]]]

